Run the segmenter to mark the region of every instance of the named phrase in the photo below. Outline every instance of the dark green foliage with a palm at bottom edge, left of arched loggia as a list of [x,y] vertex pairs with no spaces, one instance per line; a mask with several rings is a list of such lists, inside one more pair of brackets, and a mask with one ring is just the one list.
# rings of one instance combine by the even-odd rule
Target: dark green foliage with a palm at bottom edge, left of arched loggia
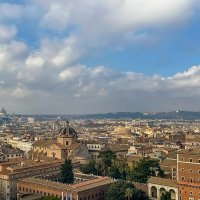
[[[129,190],[129,191],[128,191]],[[130,182],[116,181],[107,190],[105,200],[149,200],[145,192],[138,190]]]

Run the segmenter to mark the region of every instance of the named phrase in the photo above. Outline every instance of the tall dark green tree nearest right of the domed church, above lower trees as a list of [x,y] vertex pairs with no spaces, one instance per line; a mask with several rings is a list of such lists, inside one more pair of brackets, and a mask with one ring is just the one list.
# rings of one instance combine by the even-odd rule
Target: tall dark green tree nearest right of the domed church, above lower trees
[[110,149],[99,153],[97,162],[101,166],[104,176],[108,174],[108,168],[112,166],[113,160],[116,159],[116,157],[116,153]]

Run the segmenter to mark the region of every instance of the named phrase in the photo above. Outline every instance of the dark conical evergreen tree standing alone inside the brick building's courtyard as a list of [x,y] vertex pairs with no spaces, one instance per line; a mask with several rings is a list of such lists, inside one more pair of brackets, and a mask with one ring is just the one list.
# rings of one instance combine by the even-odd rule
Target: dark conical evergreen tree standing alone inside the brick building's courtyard
[[74,173],[71,160],[66,159],[61,166],[61,182],[71,184],[74,182]]

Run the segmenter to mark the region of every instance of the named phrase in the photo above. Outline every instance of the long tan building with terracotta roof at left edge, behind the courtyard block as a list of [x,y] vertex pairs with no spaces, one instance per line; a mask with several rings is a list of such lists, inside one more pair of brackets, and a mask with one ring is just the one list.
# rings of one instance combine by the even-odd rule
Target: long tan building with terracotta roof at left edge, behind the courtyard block
[[[51,177],[60,173],[63,160],[43,158],[30,160],[25,158],[11,159],[0,163],[0,199],[15,200],[17,197],[17,181],[26,177]],[[74,168],[79,163],[73,163]]]

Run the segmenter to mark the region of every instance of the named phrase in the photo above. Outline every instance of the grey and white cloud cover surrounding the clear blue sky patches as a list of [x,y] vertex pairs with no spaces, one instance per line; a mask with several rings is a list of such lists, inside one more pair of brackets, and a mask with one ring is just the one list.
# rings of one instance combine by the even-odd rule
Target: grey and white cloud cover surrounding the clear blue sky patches
[[[195,0],[32,0],[0,4],[0,105],[19,113],[200,110],[200,66],[169,77],[81,62],[107,45],[186,23]],[[12,10],[12,15],[6,12]],[[35,23],[36,47],[20,35]],[[171,27],[173,28],[173,27]],[[20,36],[20,37],[19,37]],[[21,39],[20,39],[21,38]],[[29,38],[30,39],[30,38]],[[145,58],[144,58],[145,59]]]

